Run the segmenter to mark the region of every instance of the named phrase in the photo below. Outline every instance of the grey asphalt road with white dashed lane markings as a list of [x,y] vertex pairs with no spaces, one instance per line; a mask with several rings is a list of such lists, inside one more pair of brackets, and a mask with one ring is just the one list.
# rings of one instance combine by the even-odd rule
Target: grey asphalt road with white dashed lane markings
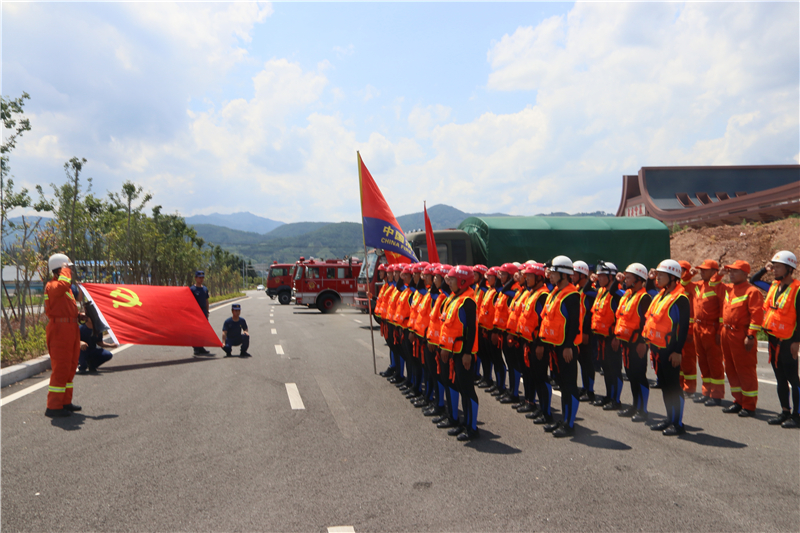
[[[76,376],[79,414],[45,418],[46,387],[4,405],[2,530],[800,527],[800,431],[766,424],[773,384],[751,419],[687,403],[679,438],[581,404],[576,436],[558,440],[479,392],[482,436],[462,444],[373,374],[368,317],[250,296],[250,359],[133,346]],[[217,331],[227,316],[212,312]],[[376,348],[382,370],[377,331]],[[660,391],[650,405],[664,413]]]

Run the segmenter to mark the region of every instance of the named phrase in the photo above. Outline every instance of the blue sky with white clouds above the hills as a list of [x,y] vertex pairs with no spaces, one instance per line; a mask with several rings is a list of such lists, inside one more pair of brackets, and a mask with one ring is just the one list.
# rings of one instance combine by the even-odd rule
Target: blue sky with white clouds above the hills
[[15,181],[169,212],[615,211],[642,166],[791,164],[797,3],[3,3]]

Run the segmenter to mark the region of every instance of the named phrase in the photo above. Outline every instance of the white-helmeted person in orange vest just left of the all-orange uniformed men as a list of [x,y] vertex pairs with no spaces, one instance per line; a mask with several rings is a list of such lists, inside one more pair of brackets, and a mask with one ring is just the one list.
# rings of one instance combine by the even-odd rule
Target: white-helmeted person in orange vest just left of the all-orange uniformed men
[[681,350],[689,334],[689,299],[680,284],[681,266],[665,259],[652,271],[660,292],[647,310],[642,336],[650,344],[666,419],[650,426],[666,436],[686,433],[683,426],[683,394],[680,384]]

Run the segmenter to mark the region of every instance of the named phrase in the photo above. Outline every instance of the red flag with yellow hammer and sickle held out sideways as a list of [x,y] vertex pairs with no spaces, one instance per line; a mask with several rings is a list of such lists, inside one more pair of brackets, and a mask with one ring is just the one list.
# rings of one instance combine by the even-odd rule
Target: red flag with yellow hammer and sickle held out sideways
[[189,287],[105,283],[81,287],[118,343],[222,346]]

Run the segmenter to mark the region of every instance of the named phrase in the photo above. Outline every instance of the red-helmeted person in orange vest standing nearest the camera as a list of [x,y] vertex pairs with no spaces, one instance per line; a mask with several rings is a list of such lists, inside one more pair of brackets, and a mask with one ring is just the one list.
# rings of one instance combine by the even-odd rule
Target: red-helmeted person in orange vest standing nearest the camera
[[[470,289],[471,281],[471,267],[459,265],[450,269],[447,283],[453,300],[447,307],[440,337],[442,360],[445,363],[453,360],[456,386],[461,394],[464,426],[457,433],[459,441],[478,438],[478,395],[471,372],[478,351],[478,308]],[[454,433],[454,430],[449,432]]]

